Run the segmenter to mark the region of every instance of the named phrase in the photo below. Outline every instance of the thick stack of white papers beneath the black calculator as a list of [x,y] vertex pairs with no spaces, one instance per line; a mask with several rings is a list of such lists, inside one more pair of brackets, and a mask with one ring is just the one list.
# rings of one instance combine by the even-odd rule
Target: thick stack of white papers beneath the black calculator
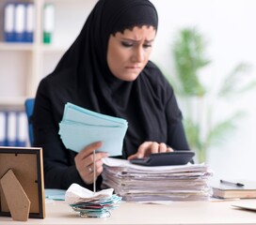
[[204,164],[148,167],[104,158],[103,188],[114,188],[127,202],[200,201],[211,196],[211,176]]

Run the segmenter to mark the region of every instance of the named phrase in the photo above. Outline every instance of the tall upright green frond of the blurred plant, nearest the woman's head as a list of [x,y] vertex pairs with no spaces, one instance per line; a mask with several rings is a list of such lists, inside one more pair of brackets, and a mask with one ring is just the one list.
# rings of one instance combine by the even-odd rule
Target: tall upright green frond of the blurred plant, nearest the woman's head
[[204,40],[195,28],[184,28],[174,42],[174,63],[184,96],[203,96],[205,93],[198,77],[199,69],[210,63],[204,50]]

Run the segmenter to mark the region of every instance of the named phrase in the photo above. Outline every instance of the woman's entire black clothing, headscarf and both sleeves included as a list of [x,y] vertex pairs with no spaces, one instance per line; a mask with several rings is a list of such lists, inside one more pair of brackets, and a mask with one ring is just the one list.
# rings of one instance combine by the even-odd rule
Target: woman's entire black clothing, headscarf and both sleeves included
[[112,1],[96,4],[56,69],[40,82],[33,128],[34,144],[43,148],[45,188],[69,188],[74,182],[92,188],[83,183],[74,165],[75,153],[64,147],[58,135],[67,102],[128,121],[122,158],[135,154],[147,141],[167,143],[176,150],[189,149],[182,113],[159,68],[149,61],[136,81],[123,82],[106,63],[109,36],[140,24],[157,29],[155,8],[148,0]]

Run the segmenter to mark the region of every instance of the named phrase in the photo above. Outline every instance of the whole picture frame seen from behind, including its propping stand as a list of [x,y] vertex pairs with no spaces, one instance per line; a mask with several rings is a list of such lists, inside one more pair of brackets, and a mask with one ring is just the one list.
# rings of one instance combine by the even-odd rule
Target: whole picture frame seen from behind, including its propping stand
[[0,146],[0,217],[45,218],[42,148]]

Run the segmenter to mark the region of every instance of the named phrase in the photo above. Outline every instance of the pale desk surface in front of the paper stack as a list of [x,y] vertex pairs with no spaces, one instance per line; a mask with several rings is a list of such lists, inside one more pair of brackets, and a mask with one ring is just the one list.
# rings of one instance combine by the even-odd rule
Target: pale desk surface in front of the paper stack
[[26,222],[0,218],[0,224],[256,224],[256,212],[232,207],[229,202],[174,202],[169,205],[121,203],[110,218],[80,218],[64,202],[46,203],[46,218],[29,218]]

